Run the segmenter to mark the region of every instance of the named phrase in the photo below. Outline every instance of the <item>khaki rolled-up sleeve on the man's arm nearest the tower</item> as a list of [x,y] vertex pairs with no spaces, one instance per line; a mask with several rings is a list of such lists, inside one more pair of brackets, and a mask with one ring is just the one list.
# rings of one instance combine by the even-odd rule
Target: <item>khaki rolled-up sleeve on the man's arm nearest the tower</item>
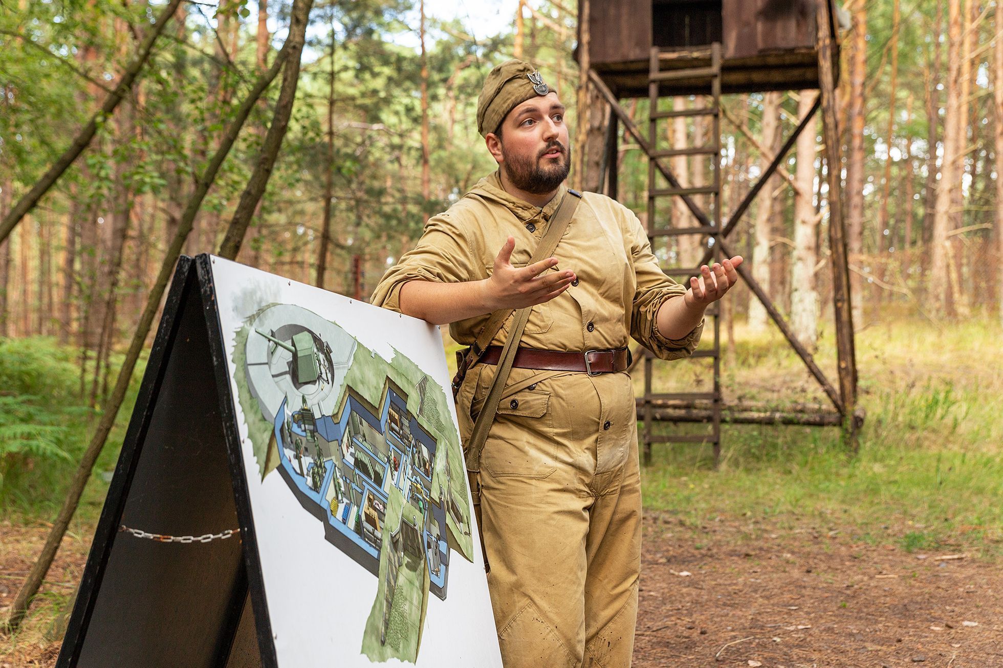
[[681,339],[666,338],[658,331],[658,310],[666,300],[685,295],[686,288],[662,272],[641,222],[629,212],[626,232],[630,236],[631,259],[637,281],[631,308],[631,336],[661,359],[688,357],[700,342],[703,321]]

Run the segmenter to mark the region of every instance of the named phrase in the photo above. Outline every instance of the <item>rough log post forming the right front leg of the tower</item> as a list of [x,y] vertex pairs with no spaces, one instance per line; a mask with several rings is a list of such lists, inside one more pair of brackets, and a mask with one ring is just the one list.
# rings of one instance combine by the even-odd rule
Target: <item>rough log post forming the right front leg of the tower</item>
[[829,0],[815,0],[818,51],[818,87],[822,105],[825,161],[828,164],[828,247],[832,267],[832,305],[835,314],[837,368],[843,399],[844,434],[850,448],[859,447],[857,424],[852,419],[857,406],[857,351],[850,295],[850,267],[847,232],[843,220],[842,159],[835,98],[835,46],[832,44],[832,16]]

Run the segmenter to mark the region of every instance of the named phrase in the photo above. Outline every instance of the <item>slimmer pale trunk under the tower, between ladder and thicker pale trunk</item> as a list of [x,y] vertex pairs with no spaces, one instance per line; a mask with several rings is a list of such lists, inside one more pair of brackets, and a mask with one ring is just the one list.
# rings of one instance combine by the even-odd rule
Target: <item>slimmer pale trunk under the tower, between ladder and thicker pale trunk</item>
[[[764,151],[759,154],[759,172],[766,171],[773,153],[780,149],[780,93],[767,92],[763,94],[762,102],[762,141]],[[773,218],[774,196],[773,192],[780,185],[780,178],[776,175],[770,177],[763,191],[757,198],[755,213],[754,236],[755,245],[752,247],[752,277],[767,291],[770,297],[772,294],[772,281],[769,274],[769,240],[770,223]],[[767,322],[766,309],[758,299],[749,301],[748,325],[753,332],[761,332],[766,329]]]

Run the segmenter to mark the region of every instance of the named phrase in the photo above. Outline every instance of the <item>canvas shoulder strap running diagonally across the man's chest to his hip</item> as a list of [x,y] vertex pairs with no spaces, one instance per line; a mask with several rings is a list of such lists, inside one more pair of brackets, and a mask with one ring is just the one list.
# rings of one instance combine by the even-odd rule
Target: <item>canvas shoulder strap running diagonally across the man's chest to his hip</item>
[[[575,216],[581,199],[581,193],[569,189],[561,204],[558,205],[558,209],[554,213],[554,218],[551,219],[551,225],[548,227],[543,239],[540,240],[540,245],[533,253],[533,257],[530,258],[529,264],[532,265],[554,255],[554,250],[568,229],[571,219]],[[490,431],[491,423],[494,421],[498,401],[501,399],[501,392],[505,389],[506,381],[509,379],[509,372],[512,371],[512,364],[516,359],[519,341],[523,338],[523,330],[526,329],[526,323],[530,319],[530,312],[532,310],[533,307],[531,306],[516,311],[516,320],[513,323],[509,339],[501,349],[501,358],[498,360],[497,371],[494,374],[493,381],[491,381],[490,389],[487,390],[487,398],[484,399],[483,407],[477,415],[477,420],[473,423],[473,432],[470,434],[470,440],[466,444],[466,448],[464,448],[466,450],[466,469],[469,471],[480,470],[480,451],[484,446],[484,441],[487,440],[487,432]],[[476,364],[480,356],[483,355],[483,351],[490,345],[491,340],[501,330],[503,324],[514,311],[515,309],[503,309],[491,314],[487,324],[484,325],[484,328],[477,336],[477,340],[467,353],[464,360],[467,362],[467,365],[463,369],[464,372]]]

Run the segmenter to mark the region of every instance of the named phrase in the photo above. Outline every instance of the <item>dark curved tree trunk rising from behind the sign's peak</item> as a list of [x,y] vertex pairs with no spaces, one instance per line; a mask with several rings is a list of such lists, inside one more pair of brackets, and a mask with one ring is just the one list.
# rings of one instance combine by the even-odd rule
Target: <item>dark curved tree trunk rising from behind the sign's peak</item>
[[258,163],[255,164],[248,185],[244,189],[244,193],[241,194],[237,211],[234,212],[234,217],[230,220],[230,226],[227,229],[227,235],[220,245],[220,255],[224,258],[233,260],[240,252],[248,224],[251,222],[251,216],[261,200],[261,196],[265,193],[268,180],[272,176],[272,168],[275,166],[276,157],[279,155],[279,148],[282,147],[282,139],[286,135],[289,117],[293,112],[293,102],[296,101],[300,56],[303,54],[304,35],[312,6],[313,0],[295,0],[293,2],[289,36],[286,38],[286,44],[282,47],[287,52],[285,70],[282,73],[282,88],[275,103],[272,124],[268,128],[261,154],[258,156]]

